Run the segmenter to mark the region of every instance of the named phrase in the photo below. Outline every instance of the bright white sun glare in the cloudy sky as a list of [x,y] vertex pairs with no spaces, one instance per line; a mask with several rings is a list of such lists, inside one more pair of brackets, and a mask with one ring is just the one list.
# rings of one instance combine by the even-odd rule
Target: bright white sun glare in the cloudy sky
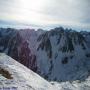
[[20,0],[19,13],[23,14],[20,19],[24,22],[40,23],[43,19],[41,9],[43,8],[43,0]]

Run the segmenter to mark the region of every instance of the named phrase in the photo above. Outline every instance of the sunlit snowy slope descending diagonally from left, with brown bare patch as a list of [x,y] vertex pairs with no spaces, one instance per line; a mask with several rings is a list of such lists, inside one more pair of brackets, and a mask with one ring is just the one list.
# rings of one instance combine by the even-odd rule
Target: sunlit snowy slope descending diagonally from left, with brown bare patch
[[10,90],[58,90],[33,71],[9,56],[0,53],[0,90],[1,88],[13,88]]

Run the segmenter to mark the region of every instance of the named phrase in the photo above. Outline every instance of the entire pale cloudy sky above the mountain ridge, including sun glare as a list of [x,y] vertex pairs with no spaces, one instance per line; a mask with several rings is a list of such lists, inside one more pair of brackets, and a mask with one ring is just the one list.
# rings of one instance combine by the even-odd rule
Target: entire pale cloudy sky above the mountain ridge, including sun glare
[[0,0],[0,26],[90,30],[90,0]]

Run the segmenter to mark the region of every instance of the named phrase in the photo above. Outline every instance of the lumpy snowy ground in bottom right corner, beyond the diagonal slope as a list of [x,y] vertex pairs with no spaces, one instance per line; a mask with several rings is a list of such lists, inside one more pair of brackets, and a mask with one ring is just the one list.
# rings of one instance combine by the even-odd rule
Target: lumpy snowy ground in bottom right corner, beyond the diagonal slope
[[85,81],[51,82],[59,90],[90,90],[90,76]]

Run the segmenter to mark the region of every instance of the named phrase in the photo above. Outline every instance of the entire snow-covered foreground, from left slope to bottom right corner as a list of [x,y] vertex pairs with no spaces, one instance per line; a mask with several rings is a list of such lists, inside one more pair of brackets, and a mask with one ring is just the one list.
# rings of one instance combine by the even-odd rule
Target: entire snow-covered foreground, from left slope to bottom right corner
[[[7,73],[7,74],[6,74]],[[79,72],[82,73],[82,72]],[[83,73],[87,76],[87,73]],[[82,74],[82,76],[84,76]],[[77,75],[76,75],[77,77]],[[0,53],[1,90],[90,90],[90,76],[85,80],[48,82],[11,57]]]

